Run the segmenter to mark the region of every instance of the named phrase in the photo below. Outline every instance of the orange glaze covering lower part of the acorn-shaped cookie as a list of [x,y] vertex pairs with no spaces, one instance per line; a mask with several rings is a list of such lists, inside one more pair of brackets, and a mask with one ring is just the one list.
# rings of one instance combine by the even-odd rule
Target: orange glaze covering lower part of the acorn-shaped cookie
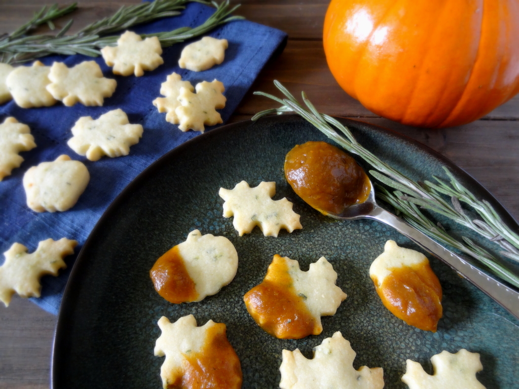
[[385,307],[411,326],[436,332],[442,317],[442,287],[429,262],[390,271],[380,287],[373,280]]

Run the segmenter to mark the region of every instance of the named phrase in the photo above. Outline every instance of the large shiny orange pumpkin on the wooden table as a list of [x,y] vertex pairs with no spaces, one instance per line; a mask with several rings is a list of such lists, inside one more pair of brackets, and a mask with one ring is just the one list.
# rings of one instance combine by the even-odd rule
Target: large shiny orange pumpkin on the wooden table
[[518,0],[332,0],[323,43],[349,95],[411,126],[465,124],[519,92]]

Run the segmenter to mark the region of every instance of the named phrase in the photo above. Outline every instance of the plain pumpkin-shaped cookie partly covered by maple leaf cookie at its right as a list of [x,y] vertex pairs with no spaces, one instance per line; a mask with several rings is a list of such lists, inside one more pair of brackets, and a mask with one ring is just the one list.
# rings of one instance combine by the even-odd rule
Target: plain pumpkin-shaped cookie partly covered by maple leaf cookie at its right
[[47,90],[50,67],[39,61],[32,66],[18,66],[9,73],[5,82],[15,103],[22,108],[48,107],[56,99]]

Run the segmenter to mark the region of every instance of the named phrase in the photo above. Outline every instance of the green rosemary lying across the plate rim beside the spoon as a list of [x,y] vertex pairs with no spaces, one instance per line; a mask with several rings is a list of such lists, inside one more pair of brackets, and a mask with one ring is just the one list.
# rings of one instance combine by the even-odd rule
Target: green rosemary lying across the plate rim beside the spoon
[[[502,222],[488,202],[477,200],[446,168],[444,170],[450,179],[450,185],[438,177],[434,177],[438,184],[415,182],[362,147],[344,124],[331,116],[320,114],[307,99],[305,92],[302,92],[302,97],[306,108],[279,81],[274,81],[274,84],[285,95],[285,99],[279,99],[264,92],[254,92],[254,94],[275,100],[281,104],[281,107],[259,112],[254,115],[252,120],[285,112],[294,112],[303,117],[327,137],[352,154],[358,155],[373,168],[373,170],[370,170],[370,174],[380,183],[377,185],[377,198],[391,205],[409,224],[432,238],[470,255],[491,273],[519,287],[519,275],[510,270],[506,263],[476,245],[469,238],[462,237],[463,242],[453,238],[440,225],[435,225],[431,219],[420,211],[420,209],[427,209],[439,213],[474,230],[489,241],[499,244],[503,249],[502,255],[519,261],[519,250],[517,249],[519,248],[519,236]],[[387,187],[396,190],[391,193]],[[444,195],[451,198],[451,203],[444,199]],[[468,213],[462,209],[460,202],[470,205],[482,220],[474,220],[469,217]]]

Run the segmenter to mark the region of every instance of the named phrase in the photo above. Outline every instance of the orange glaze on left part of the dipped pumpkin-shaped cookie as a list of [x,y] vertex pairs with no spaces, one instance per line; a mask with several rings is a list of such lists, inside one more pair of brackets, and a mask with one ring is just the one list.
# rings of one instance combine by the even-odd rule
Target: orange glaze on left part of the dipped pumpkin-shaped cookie
[[158,294],[169,302],[180,304],[198,298],[195,282],[186,270],[178,246],[157,259],[149,276]]

